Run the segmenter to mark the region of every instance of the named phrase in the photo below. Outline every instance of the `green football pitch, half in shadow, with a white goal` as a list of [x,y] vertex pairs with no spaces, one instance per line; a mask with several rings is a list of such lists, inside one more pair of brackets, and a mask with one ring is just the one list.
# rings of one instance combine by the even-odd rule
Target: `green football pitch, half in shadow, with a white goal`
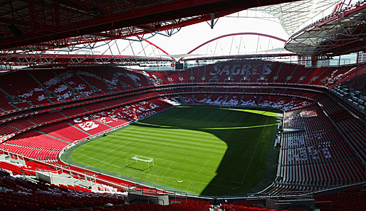
[[[271,151],[281,117],[271,109],[174,107],[75,146],[62,159],[167,190],[245,193],[268,186],[276,175],[278,155],[268,153],[276,153]],[[153,158],[154,166],[133,156]]]

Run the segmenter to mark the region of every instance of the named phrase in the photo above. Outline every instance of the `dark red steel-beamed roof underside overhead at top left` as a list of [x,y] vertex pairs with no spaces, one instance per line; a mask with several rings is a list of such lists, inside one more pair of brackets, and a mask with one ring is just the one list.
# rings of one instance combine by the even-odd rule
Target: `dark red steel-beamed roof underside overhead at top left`
[[63,48],[137,36],[287,1],[296,0],[3,0],[0,1],[0,49]]

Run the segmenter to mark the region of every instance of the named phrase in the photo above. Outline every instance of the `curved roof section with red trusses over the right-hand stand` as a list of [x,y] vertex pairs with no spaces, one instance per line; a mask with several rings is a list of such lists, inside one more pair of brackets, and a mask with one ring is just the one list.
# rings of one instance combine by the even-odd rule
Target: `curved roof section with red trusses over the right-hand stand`
[[293,34],[286,50],[299,55],[345,55],[366,50],[366,1],[330,14]]

